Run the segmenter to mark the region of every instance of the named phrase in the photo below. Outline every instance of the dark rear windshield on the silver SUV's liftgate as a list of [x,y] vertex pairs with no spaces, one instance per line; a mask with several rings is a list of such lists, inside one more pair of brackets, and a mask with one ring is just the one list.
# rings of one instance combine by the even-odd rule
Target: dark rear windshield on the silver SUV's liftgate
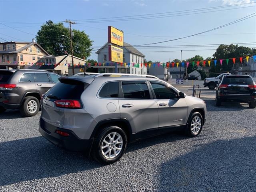
[[82,92],[89,84],[79,81],[58,82],[45,94],[45,98],[54,99],[76,99],[79,100]]

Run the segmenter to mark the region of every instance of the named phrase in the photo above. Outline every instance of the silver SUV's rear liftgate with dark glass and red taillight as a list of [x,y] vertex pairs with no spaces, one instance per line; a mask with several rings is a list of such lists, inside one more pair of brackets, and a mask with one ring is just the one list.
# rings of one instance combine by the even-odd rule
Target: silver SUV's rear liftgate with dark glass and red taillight
[[[41,118],[48,128],[49,124],[62,128],[65,119],[65,112],[77,112],[82,110],[80,100],[82,92],[89,86],[88,83],[72,78],[60,78],[54,87],[52,87],[41,100],[42,114]],[[67,121],[67,120],[66,120]],[[51,132],[51,130],[49,130]]]

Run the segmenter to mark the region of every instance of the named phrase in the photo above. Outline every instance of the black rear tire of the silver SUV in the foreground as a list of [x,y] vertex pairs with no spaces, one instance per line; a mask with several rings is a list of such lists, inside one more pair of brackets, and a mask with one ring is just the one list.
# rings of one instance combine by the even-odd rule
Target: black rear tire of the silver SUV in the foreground
[[[120,147],[120,145],[121,145],[121,144],[115,144],[114,146],[111,145],[110,147],[104,148],[103,152],[102,152],[101,147],[103,144],[103,140],[108,136],[108,134],[111,134],[113,132],[118,133],[122,137],[122,149],[120,150],[120,152],[117,154],[116,157],[106,158],[103,155],[103,152],[107,152],[107,150],[109,150],[109,148],[112,147],[112,149],[110,149],[110,155],[114,155],[114,147]],[[110,135],[110,137],[111,136],[113,136],[113,135]],[[115,137],[114,140],[117,139],[116,136],[114,136],[114,137]],[[111,141],[108,141],[108,142],[111,143]],[[108,145],[106,144],[104,146],[108,146]],[[92,146],[92,155],[98,162],[100,162],[102,164],[112,164],[112,163],[118,161],[123,156],[124,152],[126,151],[126,147],[127,147],[127,136],[126,136],[126,133],[124,132],[124,130],[122,130],[121,128],[119,128],[117,126],[109,126],[109,127],[104,128],[103,130],[101,130],[101,132],[98,134],[97,138],[95,138],[93,146]],[[104,150],[106,150],[106,151],[104,151]],[[107,153],[106,155],[108,156],[109,153]]]

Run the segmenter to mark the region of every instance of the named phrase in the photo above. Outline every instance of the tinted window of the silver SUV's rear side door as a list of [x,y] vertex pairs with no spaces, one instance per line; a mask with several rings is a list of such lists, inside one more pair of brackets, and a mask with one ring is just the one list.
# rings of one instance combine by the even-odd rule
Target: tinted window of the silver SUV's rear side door
[[146,82],[124,81],[122,90],[126,99],[150,99]]

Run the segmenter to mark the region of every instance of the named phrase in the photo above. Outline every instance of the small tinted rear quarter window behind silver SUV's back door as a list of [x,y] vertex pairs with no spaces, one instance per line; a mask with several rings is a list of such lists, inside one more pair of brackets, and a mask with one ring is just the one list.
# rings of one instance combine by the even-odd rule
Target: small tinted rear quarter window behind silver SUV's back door
[[117,98],[118,82],[106,83],[100,90],[99,96],[104,98]]

